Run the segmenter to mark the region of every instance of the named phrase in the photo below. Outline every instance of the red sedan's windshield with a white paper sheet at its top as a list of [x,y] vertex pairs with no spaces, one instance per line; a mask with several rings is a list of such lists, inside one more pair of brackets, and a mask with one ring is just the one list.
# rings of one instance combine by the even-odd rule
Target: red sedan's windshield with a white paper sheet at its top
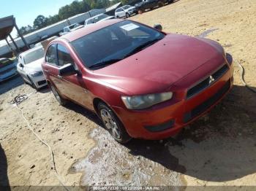
[[125,20],[94,31],[71,42],[83,63],[93,68],[98,63],[115,62],[135,54],[164,38],[165,34]]

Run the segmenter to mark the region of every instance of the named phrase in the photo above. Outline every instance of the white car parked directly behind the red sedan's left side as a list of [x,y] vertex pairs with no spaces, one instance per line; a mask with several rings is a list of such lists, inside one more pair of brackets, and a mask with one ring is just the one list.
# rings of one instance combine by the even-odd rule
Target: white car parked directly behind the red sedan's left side
[[18,57],[18,73],[25,82],[37,90],[47,85],[41,66],[44,55],[45,50],[43,47],[34,47],[26,52],[22,52]]

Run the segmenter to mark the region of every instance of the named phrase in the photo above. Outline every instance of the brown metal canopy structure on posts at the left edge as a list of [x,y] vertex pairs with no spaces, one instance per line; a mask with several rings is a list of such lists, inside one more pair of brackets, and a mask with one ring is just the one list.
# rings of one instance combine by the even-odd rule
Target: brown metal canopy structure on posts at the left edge
[[26,48],[29,49],[29,46],[26,43],[26,40],[23,38],[23,35],[20,34],[20,30],[19,30],[18,26],[16,25],[15,17],[13,17],[13,15],[11,15],[9,17],[0,18],[0,40],[4,40],[5,39],[7,44],[8,44],[8,46],[12,50],[12,47],[10,46],[10,43],[7,41],[7,37],[9,36],[10,39],[12,40],[12,43],[15,45],[15,48],[16,48],[15,52],[16,53],[19,52],[18,46],[17,46],[17,44],[15,43],[14,39],[11,36],[11,32],[12,32],[12,29],[14,27],[18,31],[18,34],[19,34],[20,38],[23,40]]

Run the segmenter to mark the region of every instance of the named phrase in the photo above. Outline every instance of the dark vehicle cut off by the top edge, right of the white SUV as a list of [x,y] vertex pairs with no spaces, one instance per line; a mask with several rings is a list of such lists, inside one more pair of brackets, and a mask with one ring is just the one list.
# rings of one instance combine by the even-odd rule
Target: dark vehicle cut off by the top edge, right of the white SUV
[[139,13],[145,12],[146,9],[154,9],[155,7],[162,7],[165,4],[172,3],[173,0],[143,0],[138,4],[135,4],[135,7],[138,9]]

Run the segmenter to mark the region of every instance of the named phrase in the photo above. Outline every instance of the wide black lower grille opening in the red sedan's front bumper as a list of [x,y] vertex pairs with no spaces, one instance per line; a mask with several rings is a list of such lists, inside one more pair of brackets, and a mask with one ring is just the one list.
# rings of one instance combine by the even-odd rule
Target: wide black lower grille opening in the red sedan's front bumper
[[206,111],[210,106],[214,105],[222,96],[229,90],[230,88],[230,80],[226,82],[226,84],[211,98],[208,98],[208,100],[204,101],[199,106],[196,106],[194,109],[192,109],[190,112],[187,112],[184,114],[183,122],[189,122],[193,118],[197,117],[198,115],[202,114]]

